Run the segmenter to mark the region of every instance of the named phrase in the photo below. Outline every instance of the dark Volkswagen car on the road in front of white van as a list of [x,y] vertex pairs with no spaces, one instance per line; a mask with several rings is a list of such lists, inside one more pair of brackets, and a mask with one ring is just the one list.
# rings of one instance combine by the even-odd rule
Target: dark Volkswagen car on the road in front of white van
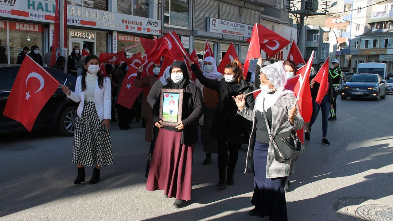
[[354,74],[342,86],[341,99],[347,98],[386,98],[386,83],[378,74]]

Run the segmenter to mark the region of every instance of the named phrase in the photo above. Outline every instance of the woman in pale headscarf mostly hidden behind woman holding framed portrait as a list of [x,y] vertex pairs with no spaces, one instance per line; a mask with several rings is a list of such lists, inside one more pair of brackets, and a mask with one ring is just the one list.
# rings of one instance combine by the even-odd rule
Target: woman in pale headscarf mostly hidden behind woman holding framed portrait
[[[171,73],[169,73],[169,69],[171,69],[171,66],[168,66],[164,70],[163,76],[161,76],[156,83],[154,83],[153,87],[150,89],[149,94],[147,95],[147,102],[149,105],[153,108],[154,104],[156,103],[158,97],[160,96],[161,89],[167,85],[167,83],[171,80]],[[151,122],[148,122],[151,123]],[[153,134],[151,138],[151,143],[150,143],[150,150],[149,150],[149,155],[147,155],[147,164],[146,164],[146,173],[145,177],[149,175],[149,170],[150,170],[150,163],[151,163],[151,158],[153,156],[153,151],[154,151],[154,146],[156,145],[156,139],[157,139],[157,134],[158,134],[158,128],[153,127]]]

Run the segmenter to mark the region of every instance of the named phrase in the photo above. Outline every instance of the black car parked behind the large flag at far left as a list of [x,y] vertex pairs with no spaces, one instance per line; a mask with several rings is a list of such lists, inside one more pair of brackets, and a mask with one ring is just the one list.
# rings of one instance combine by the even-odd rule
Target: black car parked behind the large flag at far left
[[[0,134],[14,133],[23,130],[27,131],[21,123],[3,115],[9,93],[17,77],[19,68],[20,65],[0,66]],[[74,91],[76,83],[75,77],[53,68],[44,68],[62,85],[65,84]],[[73,122],[77,115],[77,105],[77,103],[66,97],[60,87],[57,88],[35,120],[32,131],[57,128],[60,134],[72,136],[75,129]]]

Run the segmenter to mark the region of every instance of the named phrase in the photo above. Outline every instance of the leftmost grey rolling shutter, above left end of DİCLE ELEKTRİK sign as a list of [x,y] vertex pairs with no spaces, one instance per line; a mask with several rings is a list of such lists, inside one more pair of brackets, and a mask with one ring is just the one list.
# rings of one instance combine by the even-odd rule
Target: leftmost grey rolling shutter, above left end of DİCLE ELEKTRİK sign
[[208,17],[219,17],[219,2],[216,0],[195,1],[195,29],[207,31]]

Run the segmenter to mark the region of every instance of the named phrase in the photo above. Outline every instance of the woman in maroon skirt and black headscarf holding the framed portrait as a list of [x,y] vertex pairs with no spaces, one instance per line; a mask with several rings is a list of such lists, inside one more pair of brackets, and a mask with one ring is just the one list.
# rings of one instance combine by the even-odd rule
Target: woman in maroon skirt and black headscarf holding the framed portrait
[[202,94],[189,81],[187,66],[175,61],[169,70],[171,80],[163,88],[183,89],[182,120],[176,127],[164,127],[159,117],[160,98],[152,111],[153,123],[160,128],[150,164],[146,190],[164,190],[168,198],[175,197],[175,208],[191,200],[191,173],[195,143],[198,142],[198,121],[203,114]]

